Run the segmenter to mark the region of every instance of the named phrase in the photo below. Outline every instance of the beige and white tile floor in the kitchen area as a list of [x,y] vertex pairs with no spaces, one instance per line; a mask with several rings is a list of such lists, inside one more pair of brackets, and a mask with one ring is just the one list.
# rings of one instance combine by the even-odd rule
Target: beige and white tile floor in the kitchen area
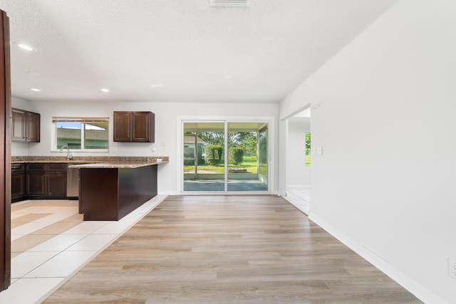
[[165,198],[155,196],[120,221],[83,221],[78,201],[11,204],[11,286],[0,303],[41,303]]

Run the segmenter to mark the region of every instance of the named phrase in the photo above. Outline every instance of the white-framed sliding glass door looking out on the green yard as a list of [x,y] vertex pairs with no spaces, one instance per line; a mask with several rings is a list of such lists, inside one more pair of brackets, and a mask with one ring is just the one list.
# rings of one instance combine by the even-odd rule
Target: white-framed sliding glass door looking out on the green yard
[[269,193],[269,122],[182,121],[182,192]]

